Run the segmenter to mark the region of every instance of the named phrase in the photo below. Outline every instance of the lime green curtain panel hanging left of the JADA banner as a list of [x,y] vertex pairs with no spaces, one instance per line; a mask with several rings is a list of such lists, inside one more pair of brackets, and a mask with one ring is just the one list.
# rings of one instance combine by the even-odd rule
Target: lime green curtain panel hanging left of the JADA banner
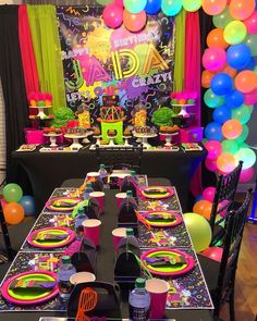
[[27,12],[40,90],[52,94],[54,111],[66,106],[56,7],[28,5]]

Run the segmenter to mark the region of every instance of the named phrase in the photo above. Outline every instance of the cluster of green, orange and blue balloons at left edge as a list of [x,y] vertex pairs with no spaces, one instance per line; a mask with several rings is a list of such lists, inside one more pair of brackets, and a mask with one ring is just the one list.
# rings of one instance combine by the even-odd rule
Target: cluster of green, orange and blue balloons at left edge
[[14,183],[4,186],[1,206],[8,224],[19,224],[23,221],[25,214],[35,213],[34,197],[29,195],[23,196],[21,186]]

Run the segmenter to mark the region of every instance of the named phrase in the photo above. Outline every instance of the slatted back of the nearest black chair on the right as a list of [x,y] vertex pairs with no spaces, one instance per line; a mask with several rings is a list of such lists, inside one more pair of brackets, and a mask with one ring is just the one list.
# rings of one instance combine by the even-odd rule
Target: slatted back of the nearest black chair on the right
[[250,197],[252,189],[248,189],[242,206],[237,210],[230,211],[225,219],[224,246],[216,289],[218,299],[215,308],[216,316],[218,316],[221,305],[228,301],[228,298],[234,291],[237,260]]

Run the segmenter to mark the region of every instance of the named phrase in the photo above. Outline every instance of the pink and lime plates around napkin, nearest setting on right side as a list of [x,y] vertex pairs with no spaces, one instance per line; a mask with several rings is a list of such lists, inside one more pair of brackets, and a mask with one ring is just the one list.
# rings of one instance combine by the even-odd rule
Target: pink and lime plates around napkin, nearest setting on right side
[[[185,267],[163,267],[163,268],[158,268],[158,267],[152,267],[149,263],[146,262],[146,258],[150,257],[150,258],[155,258],[155,254],[160,257],[167,257],[172,254],[174,255],[181,255],[185,258],[186,260],[186,266]],[[163,275],[163,276],[179,276],[182,274],[185,274],[187,272],[189,272],[194,267],[195,267],[195,261],[192,258],[192,256],[189,256],[186,252],[183,252],[181,250],[178,249],[172,249],[170,247],[162,247],[162,248],[154,248],[150,250],[145,251],[142,256],[140,256],[140,260],[142,262],[147,266],[147,269],[152,273],[152,274],[157,274],[157,275]]]

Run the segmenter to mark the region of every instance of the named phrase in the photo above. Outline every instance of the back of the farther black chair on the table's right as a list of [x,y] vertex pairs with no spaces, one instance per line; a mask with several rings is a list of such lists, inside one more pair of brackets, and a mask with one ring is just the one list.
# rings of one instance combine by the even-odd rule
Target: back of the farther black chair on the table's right
[[[225,213],[229,213],[233,208],[242,165],[243,162],[240,161],[233,172],[228,175],[219,175],[209,222],[212,232],[211,246],[216,245],[224,236],[224,231],[220,227],[220,224],[225,220]],[[224,202],[221,206],[222,201]],[[222,212],[224,213],[222,218],[217,220],[217,215]]]

